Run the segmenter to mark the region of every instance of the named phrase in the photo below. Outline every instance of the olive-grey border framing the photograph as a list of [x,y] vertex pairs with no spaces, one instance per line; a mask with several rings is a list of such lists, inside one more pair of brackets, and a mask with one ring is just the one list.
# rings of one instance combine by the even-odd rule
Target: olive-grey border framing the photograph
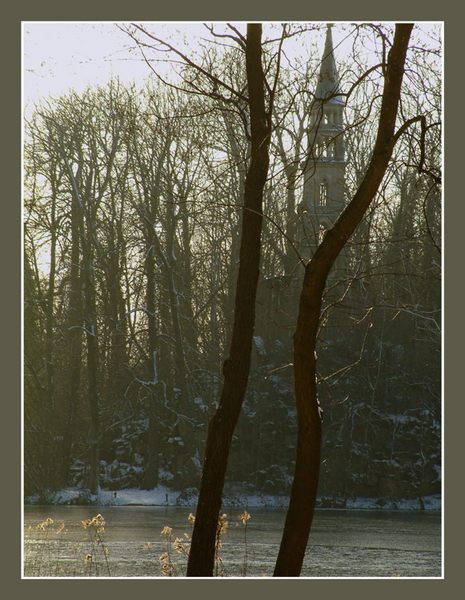
[[[186,3],[187,4],[187,3]],[[4,173],[7,174],[7,188],[4,192],[4,210],[6,217],[2,219],[3,245],[1,251],[2,272],[6,274],[4,279],[2,299],[3,315],[3,360],[2,371],[6,390],[3,395],[3,419],[4,430],[2,435],[2,450],[6,474],[4,475],[4,548],[2,572],[4,577],[4,588],[11,597],[23,598],[34,594],[39,599],[61,597],[66,594],[72,600],[78,598],[85,591],[92,588],[96,594],[111,595],[111,598],[125,598],[129,593],[134,593],[133,585],[136,585],[137,593],[169,594],[170,596],[186,597],[193,596],[205,598],[221,593],[222,597],[235,597],[244,586],[247,592],[253,594],[266,593],[270,598],[286,595],[292,592],[302,593],[327,593],[330,586],[331,593],[344,594],[344,598],[372,597],[375,593],[377,600],[391,598],[392,585],[400,586],[401,592],[421,593],[428,597],[456,597],[456,590],[461,584],[459,561],[462,556],[462,540],[458,535],[458,524],[460,524],[459,506],[462,496],[462,482],[454,478],[458,471],[460,451],[451,451],[454,439],[458,437],[458,428],[463,422],[463,401],[461,382],[457,373],[459,372],[459,361],[463,354],[463,343],[460,336],[460,324],[463,319],[461,310],[462,286],[461,286],[461,252],[457,244],[464,221],[463,191],[458,184],[458,175],[463,172],[463,166],[458,164],[458,159],[463,154],[463,142],[458,135],[462,115],[458,112],[459,102],[463,102],[463,93],[459,86],[462,75],[463,45],[459,46],[462,32],[459,27],[462,24],[461,11],[455,6],[426,6],[425,2],[419,0],[400,2],[391,0],[382,6],[373,6],[373,2],[331,2],[331,4],[312,6],[311,3],[302,0],[278,2],[268,0],[265,2],[254,2],[253,6],[243,0],[234,3],[234,8],[220,5],[212,0],[198,0],[193,4],[184,5],[178,2],[176,8],[162,8],[154,2],[123,2],[113,0],[109,3],[90,2],[81,0],[79,4],[67,4],[62,1],[43,1],[33,3],[30,1],[17,2],[5,7],[4,31],[2,34],[2,56],[5,58],[6,77],[4,78],[3,94],[3,161]],[[452,3],[451,3],[452,4]],[[445,202],[445,352],[444,352],[444,427],[445,427],[445,459],[443,473],[446,477],[445,498],[443,499],[443,511],[445,513],[445,579],[444,580],[114,580],[98,581],[90,580],[21,580],[21,21],[42,20],[180,20],[180,21],[213,21],[213,20],[308,20],[308,21],[331,21],[331,20],[422,20],[422,21],[444,21],[445,23],[445,113],[447,123],[451,123],[450,132],[446,125],[445,131],[445,180],[449,202]],[[463,34],[462,34],[463,35]],[[462,117],[463,118],[463,117]],[[456,125],[454,125],[456,124]],[[460,229],[459,229],[460,228]],[[463,235],[463,234],[462,234]],[[463,267],[462,267],[463,268]],[[450,274],[449,277],[447,275]],[[461,366],[461,365],[460,365]],[[463,367],[462,367],[463,368]],[[462,469],[463,470],[463,469]],[[457,524],[456,524],[457,523]],[[457,532],[457,533],[456,533]],[[396,583],[391,583],[396,581]],[[71,585],[70,585],[71,584]],[[221,589],[215,586],[221,586]],[[85,590],[82,586],[86,586]],[[131,588],[129,588],[131,586]],[[155,586],[155,587],[154,587]],[[160,587],[161,586],[161,587]],[[242,587],[241,587],[242,586]],[[258,587],[260,586],[260,587]],[[264,586],[264,587],[263,587]],[[342,588],[342,586],[344,586]],[[441,586],[436,588],[436,586]],[[14,595],[14,596],[13,596]]]

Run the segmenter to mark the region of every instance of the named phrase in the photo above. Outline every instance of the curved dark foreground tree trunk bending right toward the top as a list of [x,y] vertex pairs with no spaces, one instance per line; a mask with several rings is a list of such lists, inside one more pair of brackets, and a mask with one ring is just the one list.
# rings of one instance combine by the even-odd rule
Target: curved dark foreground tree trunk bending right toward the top
[[294,335],[294,378],[298,418],[297,456],[291,499],[275,577],[298,577],[315,508],[320,469],[321,421],[315,346],[326,278],[337,256],[372,202],[391,158],[405,57],[412,25],[397,25],[389,52],[378,134],[366,175],[354,198],[325,235],[305,269]]

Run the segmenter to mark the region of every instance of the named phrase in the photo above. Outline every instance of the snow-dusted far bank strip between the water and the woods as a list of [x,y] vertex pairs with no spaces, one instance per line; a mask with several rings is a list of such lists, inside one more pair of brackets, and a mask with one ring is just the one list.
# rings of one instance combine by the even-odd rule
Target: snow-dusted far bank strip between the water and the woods
[[[287,508],[288,496],[271,494],[225,494],[225,508]],[[100,490],[90,494],[82,488],[65,488],[57,492],[35,494],[25,498],[26,504],[48,505],[95,505],[95,506],[185,506],[195,508],[196,490],[184,492],[159,486],[152,490],[124,489]],[[339,498],[319,497],[318,508],[338,508],[352,510],[441,510],[441,496],[418,498]]]

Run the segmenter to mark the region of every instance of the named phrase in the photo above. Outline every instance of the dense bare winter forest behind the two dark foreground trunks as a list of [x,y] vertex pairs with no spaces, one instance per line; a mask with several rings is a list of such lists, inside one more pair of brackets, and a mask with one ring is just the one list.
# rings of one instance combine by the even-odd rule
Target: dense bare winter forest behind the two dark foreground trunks
[[[289,26],[284,41],[319,28]],[[353,29],[350,54],[338,58],[347,200],[370,161],[391,35],[390,26]],[[128,33],[144,52],[154,43]],[[323,299],[323,506],[441,490],[441,47],[440,32],[415,35],[398,116],[411,126]],[[234,318],[251,155],[238,93],[244,48],[229,42],[202,46],[195,64],[175,55],[178,79],[164,81],[148,62],[143,86],[115,78],[43,100],[26,119],[26,496],[68,486],[198,494]],[[280,61],[280,44],[278,35],[262,45],[269,168],[252,366],[226,490],[287,495],[292,339],[310,258],[303,165],[314,160],[308,122],[321,48]]]

